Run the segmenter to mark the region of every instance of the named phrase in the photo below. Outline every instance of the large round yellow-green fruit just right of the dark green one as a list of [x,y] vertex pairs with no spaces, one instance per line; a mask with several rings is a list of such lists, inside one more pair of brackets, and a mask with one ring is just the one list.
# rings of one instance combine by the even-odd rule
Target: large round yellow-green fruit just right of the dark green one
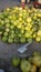
[[22,60],[20,64],[20,69],[22,72],[29,72],[31,69],[31,64],[27,60]]

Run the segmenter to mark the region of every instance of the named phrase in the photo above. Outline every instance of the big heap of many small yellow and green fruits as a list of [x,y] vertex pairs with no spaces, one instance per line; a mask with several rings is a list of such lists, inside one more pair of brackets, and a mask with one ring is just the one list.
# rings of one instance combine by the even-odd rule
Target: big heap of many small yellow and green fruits
[[28,7],[2,10],[0,40],[8,43],[41,42],[41,10]]

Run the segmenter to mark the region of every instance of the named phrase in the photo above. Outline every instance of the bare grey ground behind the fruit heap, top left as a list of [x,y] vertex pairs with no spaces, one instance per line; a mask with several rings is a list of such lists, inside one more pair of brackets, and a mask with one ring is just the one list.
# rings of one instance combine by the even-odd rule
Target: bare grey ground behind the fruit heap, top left
[[0,10],[7,7],[16,7],[19,3],[19,0],[0,0]]

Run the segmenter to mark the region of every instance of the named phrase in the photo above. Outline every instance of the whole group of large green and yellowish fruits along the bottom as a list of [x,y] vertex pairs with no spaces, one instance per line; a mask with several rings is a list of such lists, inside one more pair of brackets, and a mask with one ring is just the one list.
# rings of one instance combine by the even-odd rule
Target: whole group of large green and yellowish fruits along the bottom
[[11,68],[20,69],[21,72],[41,72],[41,52],[33,52],[25,58],[11,58]]

